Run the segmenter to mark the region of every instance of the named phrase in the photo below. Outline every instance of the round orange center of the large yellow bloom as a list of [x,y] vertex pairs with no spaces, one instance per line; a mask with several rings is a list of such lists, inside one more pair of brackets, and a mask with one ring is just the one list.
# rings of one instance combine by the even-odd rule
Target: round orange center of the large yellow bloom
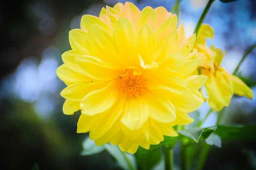
[[134,69],[125,69],[119,76],[119,90],[125,94],[138,95],[145,91],[142,75],[134,75]]

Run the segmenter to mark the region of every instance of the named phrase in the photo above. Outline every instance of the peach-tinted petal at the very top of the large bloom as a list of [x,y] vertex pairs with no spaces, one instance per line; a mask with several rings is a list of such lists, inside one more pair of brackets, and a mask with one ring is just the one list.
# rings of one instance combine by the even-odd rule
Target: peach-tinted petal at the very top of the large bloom
[[125,2],[122,16],[127,18],[135,26],[140,16],[140,9],[138,9],[133,3]]

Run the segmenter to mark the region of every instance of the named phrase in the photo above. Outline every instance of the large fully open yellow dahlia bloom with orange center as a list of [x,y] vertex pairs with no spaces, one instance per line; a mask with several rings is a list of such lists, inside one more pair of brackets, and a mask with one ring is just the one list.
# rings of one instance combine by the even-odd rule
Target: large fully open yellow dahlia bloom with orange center
[[81,110],[78,133],[129,153],[177,136],[172,127],[193,121],[187,113],[202,104],[198,89],[207,81],[190,76],[200,62],[194,43],[163,7],[117,3],[99,17],[84,15],[57,69],[67,85],[64,114]]

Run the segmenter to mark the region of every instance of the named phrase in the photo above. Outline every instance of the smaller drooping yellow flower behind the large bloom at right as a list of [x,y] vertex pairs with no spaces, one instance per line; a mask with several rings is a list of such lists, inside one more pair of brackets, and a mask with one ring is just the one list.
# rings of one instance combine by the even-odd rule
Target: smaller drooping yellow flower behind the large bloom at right
[[212,39],[213,35],[214,31],[209,25],[202,25],[194,48],[201,58],[201,74],[208,77],[205,88],[209,107],[214,111],[221,111],[224,106],[229,106],[233,94],[253,99],[253,91],[241,79],[220,67],[226,52],[215,48],[214,45],[207,47],[206,38]]

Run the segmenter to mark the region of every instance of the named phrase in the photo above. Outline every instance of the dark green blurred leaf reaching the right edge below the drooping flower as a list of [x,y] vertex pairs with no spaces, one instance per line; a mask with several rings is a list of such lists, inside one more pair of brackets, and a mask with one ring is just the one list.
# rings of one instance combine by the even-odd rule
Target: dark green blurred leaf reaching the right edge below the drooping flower
[[214,132],[221,140],[256,140],[256,125],[218,125]]

